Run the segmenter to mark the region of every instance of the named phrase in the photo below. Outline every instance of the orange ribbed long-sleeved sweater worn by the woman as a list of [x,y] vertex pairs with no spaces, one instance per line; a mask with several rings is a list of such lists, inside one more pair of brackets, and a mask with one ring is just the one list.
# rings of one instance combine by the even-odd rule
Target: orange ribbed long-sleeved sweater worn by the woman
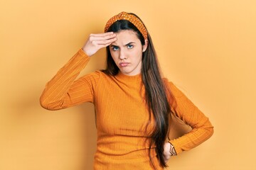
[[[146,128],[149,112],[144,103],[141,75],[129,77],[119,73],[112,77],[97,71],[75,80],[89,60],[80,49],[46,84],[41,106],[58,110],[84,102],[95,105],[97,151],[94,169],[152,169],[147,149],[149,140],[146,140],[152,126]],[[207,140],[213,134],[213,126],[171,82],[169,88],[176,100],[172,111],[192,128],[188,134],[170,141],[179,154]],[[151,154],[157,169],[163,169],[154,149]]]

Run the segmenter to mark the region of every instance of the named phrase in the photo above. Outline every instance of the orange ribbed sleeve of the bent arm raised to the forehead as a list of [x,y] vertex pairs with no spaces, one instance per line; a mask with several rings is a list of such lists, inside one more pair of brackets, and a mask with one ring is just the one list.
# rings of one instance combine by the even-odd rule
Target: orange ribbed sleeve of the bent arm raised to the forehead
[[48,110],[58,110],[93,101],[93,86],[97,72],[75,80],[90,57],[82,49],[65,64],[47,84],[41,94],[40,103]]

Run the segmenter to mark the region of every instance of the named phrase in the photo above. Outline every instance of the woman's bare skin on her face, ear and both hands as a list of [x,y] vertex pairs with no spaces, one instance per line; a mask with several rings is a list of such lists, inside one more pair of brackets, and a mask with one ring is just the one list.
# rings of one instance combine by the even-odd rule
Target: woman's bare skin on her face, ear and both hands
[[[118,33],[90,34],[82,50],[87,56],[91,57],[98,50],[109,45],[112,58],[120,72],[128,76],[141,73],[142,52],[146,50],[147,40],[145,40],[145,45],[142,45],[136,33],[132,30],[122,30]],[[166,142],[163,152],[166,162],[171,157],[170,148],[171,144]]]

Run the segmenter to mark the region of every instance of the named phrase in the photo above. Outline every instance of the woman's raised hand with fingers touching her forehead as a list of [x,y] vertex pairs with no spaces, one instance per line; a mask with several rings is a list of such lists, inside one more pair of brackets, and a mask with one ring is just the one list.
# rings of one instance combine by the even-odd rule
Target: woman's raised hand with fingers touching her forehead
[[82,50],[87,56],[92,56],[102,47],[107,47],[116,40],[117,35],[113,32],[90,34]]

